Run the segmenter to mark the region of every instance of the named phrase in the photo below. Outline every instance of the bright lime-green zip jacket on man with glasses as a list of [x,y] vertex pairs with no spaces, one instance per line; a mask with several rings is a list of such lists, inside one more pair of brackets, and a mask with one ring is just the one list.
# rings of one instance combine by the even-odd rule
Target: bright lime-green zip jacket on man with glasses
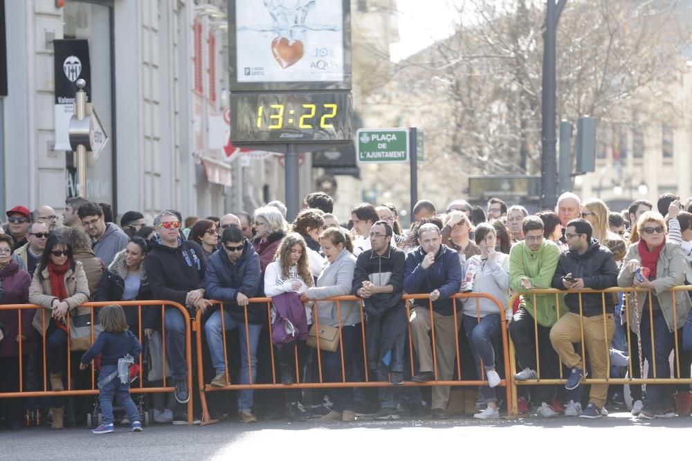
[[[531,285],[536,289],[551,288],[559,259],[560,250],[552,241],[544,240],[535,252],[531,251],[526,242],[514,244],[509,251],[509,288],[513,292],[526,291],[521,285],[522,276],[528,277]],[[563,296],[536,295],[536,321],[540,326],[552,327],[557,321],[556,301],[558,301],[560,316],[562,317],[567,312],[565,304],[561,301]],[[519,305],[529,312],[531,317],[534,317],[534,295],[522,295]]]

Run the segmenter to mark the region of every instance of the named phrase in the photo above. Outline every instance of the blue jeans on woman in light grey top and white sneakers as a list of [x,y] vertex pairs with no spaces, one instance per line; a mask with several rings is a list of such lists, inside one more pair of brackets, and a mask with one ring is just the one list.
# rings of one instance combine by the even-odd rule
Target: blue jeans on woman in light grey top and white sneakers
[[[478,379],[481,378],[481,360],[486,370],[495,368],[495,350],[493,349],[493,341],[500,336],[500,321],[499,314],[488,314],[481,317],[480,320],[470,315],[464,315],[464,331],[468,344],[471,345],[473,357],[476,362],[476,370]],[[480,394],[486,402],[497,402],[495,397],[495,389],[489,386],[480,386]]]

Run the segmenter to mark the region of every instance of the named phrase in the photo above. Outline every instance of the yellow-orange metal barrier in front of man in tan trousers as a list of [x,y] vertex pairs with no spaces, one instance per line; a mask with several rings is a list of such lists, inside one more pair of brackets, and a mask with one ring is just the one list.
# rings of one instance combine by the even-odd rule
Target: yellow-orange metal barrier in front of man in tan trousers
[[[671,288],[669,291],[675,293],[678,291],[685,291],[685,292],[692,292],[692,285],[681,285],[677,287]],[[630,287],[630,288],[620,288],[620,287],[614,287],[614,288],[608,288],[605,290],[591,290],[590,288],[585,288],[582,290],[557,290],[554,288],[549,288],[545,290],[529,290],[527,292],[521,292],[521,293],[516,293],[514,294],[510,299],[509,299],[509,306],[511,307],[516,301],[516,298],[519,296],[532,296],[533,297],[533,304],[534,304],[534,312],[532,317],[534,318],[534,332],[535,332],[535,346],[536,346],[536,374],[538,377],[536,379],[527,379],[524,381],[517,381],[516,379],[513,378],[513,376],[517,373],[517,368],[516,368],[516,354],[515,354],[515,349],[514,349],[514,344],[513,341],[511,341],[511,338],[509,340],[509,355],[511,357],[510,359],[510,364],[511,364],[511,388],[513,389],[513,397],[514,397],[514,402],[513,402],[513,410],[515,413],[513,415],[516,415],[517,407],[518,407],[518,393],[517,393],[517,388],[516,386],[534,386],[534,385],[557,385],[557,384],[565,384],[567,382],[567,379],[563,377],[563,364],[562,361],[559,361],[559,378],[557,379],[549,379],[549,378],[541,378],[540,377],[540,356],[539,356],[539,344],[538,344],[538,322],[536,321],[537,317],[537,312],[536,312],[536,295],[541,295],[541,294],[554,294],[555,299],[556,299],[556,304],[559,304],[561,302],[561,295],[567,294],[567,293],[578,293],[580,294],[579,296],[579,317],[580,317],[580,328],[581,328],[581,357],[583,363],[585,363],[585,343],[584,343],[584,326],[583,326],[583,304],[582,304],[582,294],[601,294],[601,306],[603,309],[603,329],[605,331],[606,328],[606,323],[605,323],[605,297],[606,296],[611,296],[612,294],[617,294],[617,293],[624,293],[625,296],[623,297],[624,300],[624,305],[623,305],[623,310],[622,310],[622,318],[624,320],[623,322],[623,328],[625,328],[626,331],[626,337],[627,337],[627,346],[628,346],[628,356],[632,357],[632,348],[637,347],[637,341],[635,341],[635,344],[632,344],[632,330],[630,328],[630,318],[629,318],[629,312],[630,309],[634,310],[635,306],[632,305],[632,301],[630,300],[630,297],[628,294],[635,293],[635,292],[646,292],[649,293],[650,290],[647,290],[646,288],[635,288],[635,287]],[[653,311],[653,300],[649,296],[648,297],[648,306],[639,306],[639,310],[642,312],[648,308],[649,315],[652,315]],[[639,314],[641,316],[641,314]],[[560,313],[559,310],[557,312],[557,319],[560,319]],[[680,332],[679,330],[682,328],[683,325],[678,325],[677,324],[677,302],[675,301],[675,296],[673,296],[673,319],[674,319],[674,331],[673,331],[673,337],[674,337],[674,347],[673,347],[673,354],[675,356],[675,372],[677,374],[677,378],[659,378],[657,377],[657,372],[656,372],[656,347],[655,347],[655,341],[653,341],[654,338],[654,330],[653,330],[653,322],[650,323],[650,331],[648,332],[650,334],[650,337],[652,338],[651,341],[651,355],[653,358],[653,362],[650,364],[651,367],[653,367],[653,378],[645,378],[645,377],[639,377],[639,378],[634,378],[632,377],[633,373],[633,367],[637,366],[639,367],[639,364],[632,364],[632,360],[629,361],[628,364],[628,378],[612,378],[610,377],[610,355],[606,358],[606,363],[607,363],[607,376],[605,378],[591,378],[591,377],[585,377],[582,380],[582,383],[585,385],[588,384],[692,384],[692,377],[680,377]],[[638,328],[638,327],[637,327]],[[608,335],[605,335],[606,339]],[[605,344],[605,350],[610,352],[610,343]],[[641,355],[640,355],[641,357]],[[644,357],[641,357],[641,361],[644,361]],[[689,375],[690,370],[686,370],[686,374]]]

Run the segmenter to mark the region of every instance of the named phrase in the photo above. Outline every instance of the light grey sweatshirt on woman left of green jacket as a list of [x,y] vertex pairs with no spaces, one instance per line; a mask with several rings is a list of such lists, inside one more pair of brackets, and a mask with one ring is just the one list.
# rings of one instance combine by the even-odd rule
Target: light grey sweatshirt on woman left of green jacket
[[[494,261],[482,261],[480,256],[473,256],[466,260],[466,269],[471,260],[480,261],[475,279],[473,280],[473,292],[487,293],[497,298],[502,303],[502,310],[498,305],[487,298],[477,298],[480,317],[488,314],[504,314],[509,301],[509,255],[498,252]],[[464,299],[464,315],[476,317],[476,299]]]

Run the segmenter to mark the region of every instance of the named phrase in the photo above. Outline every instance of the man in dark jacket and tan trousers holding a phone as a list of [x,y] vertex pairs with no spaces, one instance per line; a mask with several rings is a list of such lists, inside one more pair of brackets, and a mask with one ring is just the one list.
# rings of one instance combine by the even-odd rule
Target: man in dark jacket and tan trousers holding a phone
[[[605,290],[617,286],[617,264],[612,252],[591,238],[592,232],[591,224],[585,219],[573,219],[567,223],[565,240],[570,249],[560,255],[553,276],[553,288]],[[608,349],[615,331],[615,306],[611,296],[603,297],[601,293],[568,293],[565,294],[565,305],[570,312],[560,317],[550,330],[553,348],[558,352],[563,364],[572,368],[565,384],[567,391],[571,391],[570,404],[565,409],[565,415],[599,418],[603,413],[605,397],[608,396],[608,384],[592,384],[589,405],[582,412],[578,389],[586,372],[584,358],[574,351],[574,343],[581,342],[583,332],[592,377],[608,377]],[[581,350],[580,348],[579,351]]]

